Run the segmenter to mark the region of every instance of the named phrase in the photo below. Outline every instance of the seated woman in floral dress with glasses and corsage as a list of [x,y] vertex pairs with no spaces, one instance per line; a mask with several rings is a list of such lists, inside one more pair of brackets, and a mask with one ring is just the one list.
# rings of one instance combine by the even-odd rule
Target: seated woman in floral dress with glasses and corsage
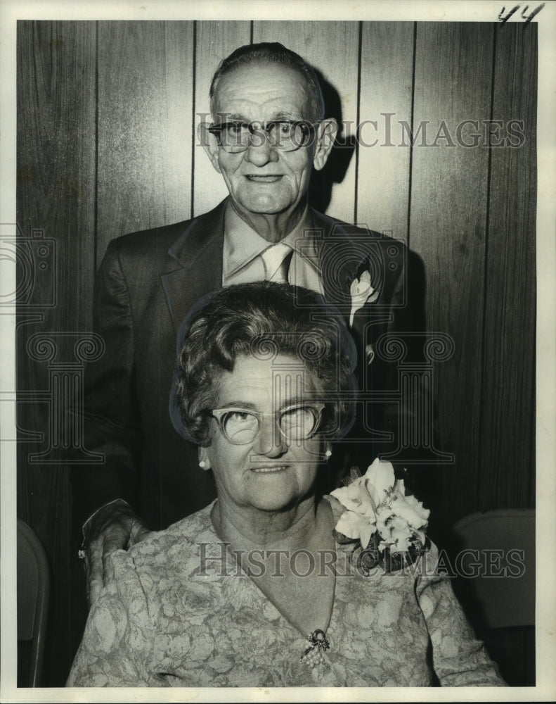
[[218,498],[112,555],[68,686],[503,684],[392,467],[318,490],[353,370],[340,315],[304,289],[230,287],[190,314],[174,425]]

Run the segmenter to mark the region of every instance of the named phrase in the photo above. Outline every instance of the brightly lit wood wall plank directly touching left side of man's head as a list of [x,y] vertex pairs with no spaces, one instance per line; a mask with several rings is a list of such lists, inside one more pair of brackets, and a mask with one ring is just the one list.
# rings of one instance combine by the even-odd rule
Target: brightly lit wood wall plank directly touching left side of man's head
[[[209,88],[223,58],[250,43],[250,22],[198,22],[195,42],[195,127],[210,112]],[[210,121],[210,118],[207,118]],[[193,214],[200,215],[226,198],[228,189],[209,162],[195,132]]]

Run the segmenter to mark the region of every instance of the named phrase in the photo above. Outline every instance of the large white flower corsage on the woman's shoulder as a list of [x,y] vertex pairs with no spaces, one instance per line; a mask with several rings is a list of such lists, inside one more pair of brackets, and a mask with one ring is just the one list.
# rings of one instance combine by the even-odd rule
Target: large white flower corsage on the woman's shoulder
[[391,463],[377,458],[363,477],[354,477],[332,496],[347,508],[335,536],[340,542],[359,541],[368,553],[367,567],[376,565],[385,550],[401,567],[413,562],[425,544],[430,511],[415,496],[406,496],[403,479],[394,477]]

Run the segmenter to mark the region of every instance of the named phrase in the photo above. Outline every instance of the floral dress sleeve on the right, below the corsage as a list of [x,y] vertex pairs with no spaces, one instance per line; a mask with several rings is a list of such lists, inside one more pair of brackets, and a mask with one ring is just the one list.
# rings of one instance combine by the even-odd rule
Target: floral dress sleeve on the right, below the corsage
[[[437,547],[427,553],[416,593],[432,641],[432,663],[441,686],[505,686],[498,667],[478,641],[453,593],[450,578],[434,574]],[[431,575],[431,576],[429,576]]]

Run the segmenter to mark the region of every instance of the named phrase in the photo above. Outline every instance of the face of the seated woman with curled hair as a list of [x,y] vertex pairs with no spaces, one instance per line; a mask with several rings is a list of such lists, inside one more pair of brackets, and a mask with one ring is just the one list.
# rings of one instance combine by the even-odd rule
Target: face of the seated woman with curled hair
[[[304,365],[290,356],[238,357],[233,372],[222,372],[216,408],[245,408],[267,415],[257,436],[241,445],[231,443],[216,420],[210,421],[211,444],[201,449],[200,456],[207,469],[212,467],[219,501],[279,511],[311,494],[323,460],[323,442],[318,436],[287,440],[278,430],[278,414],[268,414],[314,400],[315,388]],[[240,424],[242,418],[238,414],[234,422]]]

